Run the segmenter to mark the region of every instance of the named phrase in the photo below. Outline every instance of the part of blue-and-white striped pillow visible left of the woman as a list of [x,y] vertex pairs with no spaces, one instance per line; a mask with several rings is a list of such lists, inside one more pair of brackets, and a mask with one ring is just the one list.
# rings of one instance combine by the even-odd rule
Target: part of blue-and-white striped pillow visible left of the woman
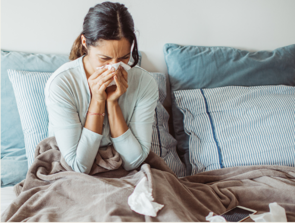
[[16,98],[30,167],[34,161],[37,144],[48,137],[48,114],[44,87],[47,79],[53,73],[7,71]]

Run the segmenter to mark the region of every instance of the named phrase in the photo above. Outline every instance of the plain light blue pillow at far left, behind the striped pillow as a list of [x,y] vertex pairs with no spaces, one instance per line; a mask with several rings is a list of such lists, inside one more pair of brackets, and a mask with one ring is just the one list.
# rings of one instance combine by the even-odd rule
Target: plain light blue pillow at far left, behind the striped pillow
[[7,70],[54,72],[67,61],[65,55],[1,51],[1,187],[19,183],[28,171],[20,117]]

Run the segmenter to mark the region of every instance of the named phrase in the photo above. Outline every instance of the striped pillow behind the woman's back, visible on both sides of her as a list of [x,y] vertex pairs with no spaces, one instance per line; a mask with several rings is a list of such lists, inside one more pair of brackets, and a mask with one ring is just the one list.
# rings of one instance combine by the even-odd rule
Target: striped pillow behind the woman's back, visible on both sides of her
[[[53,73],[15,70],[8,70],[8,73],[16,96],[30,167],[34,161],[37,144],[48,137],[48,114],[44,88],[47,79]],[[156,106],[151,149],[181,177],[184,176],[185,170],[176,153],[176,140],[167,131],[169,116],[161,104],[166,97],[165,74],[151,73],[151,75],[159,84],[159,100],[161,101],[158,101]]]

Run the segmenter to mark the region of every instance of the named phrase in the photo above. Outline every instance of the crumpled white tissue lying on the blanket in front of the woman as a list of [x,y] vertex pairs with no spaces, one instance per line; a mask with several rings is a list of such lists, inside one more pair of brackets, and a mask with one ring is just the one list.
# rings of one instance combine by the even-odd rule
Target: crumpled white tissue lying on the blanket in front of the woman
[[128,197],[128,205],[131,210],[139,214],[156,217],[157,212],[161,210],[164,205],[153,202],[152,189],[145,185],[146,181],[146,176],[139,181],[133,193]]

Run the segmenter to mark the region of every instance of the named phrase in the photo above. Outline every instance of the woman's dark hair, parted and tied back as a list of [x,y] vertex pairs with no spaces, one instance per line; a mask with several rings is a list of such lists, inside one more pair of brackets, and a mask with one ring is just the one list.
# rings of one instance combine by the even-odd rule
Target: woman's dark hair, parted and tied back
[[[132,67],[138,63],[138,47],[134,30],[134,21],[125,5],[104,2],[89,9],[84,18],[83,31],[73,43],[69,55],[70,60],[87,55],[89,46],[96,46],[99,40],[119,40],[125,37],[130,44],[134,42]],[[87,49],[83,46],[81,35],[86,38]]]

